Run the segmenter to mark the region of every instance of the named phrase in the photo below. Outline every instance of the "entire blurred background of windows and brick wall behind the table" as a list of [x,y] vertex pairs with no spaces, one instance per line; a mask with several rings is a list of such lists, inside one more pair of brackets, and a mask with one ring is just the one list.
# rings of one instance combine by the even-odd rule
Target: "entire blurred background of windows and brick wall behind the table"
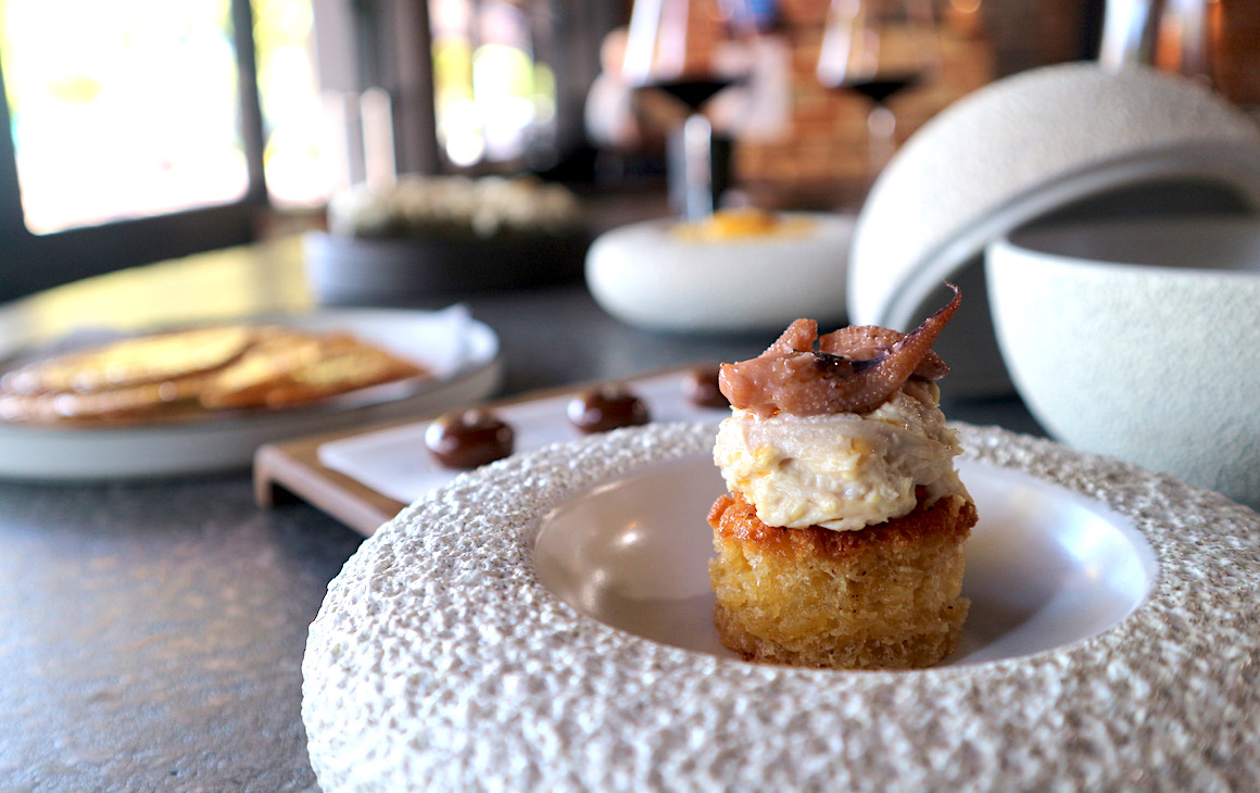
[[[1260,106],[1260,4],[1203,0],[1210,79]],[[772,207],[852,203],[866,110],[814,67],[827,0],[780,0],[782,95],[735,142]],[[630,0],[0,0],[0,300],[321,223],[396,173],[654,190],[663,130],[592,136]],[[1092,58],[1104,0],[935,0],[942,69],[897,135],[1000,77]],[[615,39],[612,39],[615,42]],[[612,58],[615,62],[615,58]],[[1176,68],[1172,64],[1171,68]]]

